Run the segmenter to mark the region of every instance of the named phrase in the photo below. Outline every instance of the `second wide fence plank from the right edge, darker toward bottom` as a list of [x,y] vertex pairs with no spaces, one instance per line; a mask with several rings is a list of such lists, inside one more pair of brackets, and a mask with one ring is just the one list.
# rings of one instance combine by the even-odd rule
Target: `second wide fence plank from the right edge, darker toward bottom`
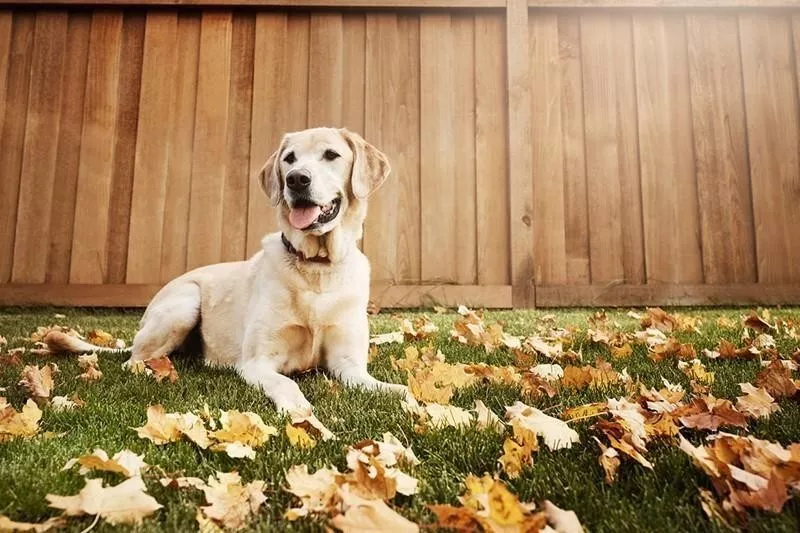
[[739,27],[734,14],[686,16],[706,283],[756,277]]

